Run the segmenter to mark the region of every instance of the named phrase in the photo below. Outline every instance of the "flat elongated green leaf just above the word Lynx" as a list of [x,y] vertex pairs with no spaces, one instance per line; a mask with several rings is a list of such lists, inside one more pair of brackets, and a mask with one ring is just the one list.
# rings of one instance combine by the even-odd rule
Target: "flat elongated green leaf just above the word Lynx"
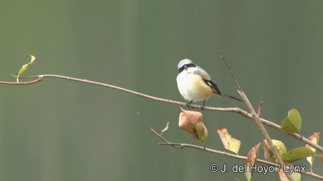
[[293,162],[308,156],[315,156],[315,153],[307,147],[298,147],[282,154],[283,161]]

